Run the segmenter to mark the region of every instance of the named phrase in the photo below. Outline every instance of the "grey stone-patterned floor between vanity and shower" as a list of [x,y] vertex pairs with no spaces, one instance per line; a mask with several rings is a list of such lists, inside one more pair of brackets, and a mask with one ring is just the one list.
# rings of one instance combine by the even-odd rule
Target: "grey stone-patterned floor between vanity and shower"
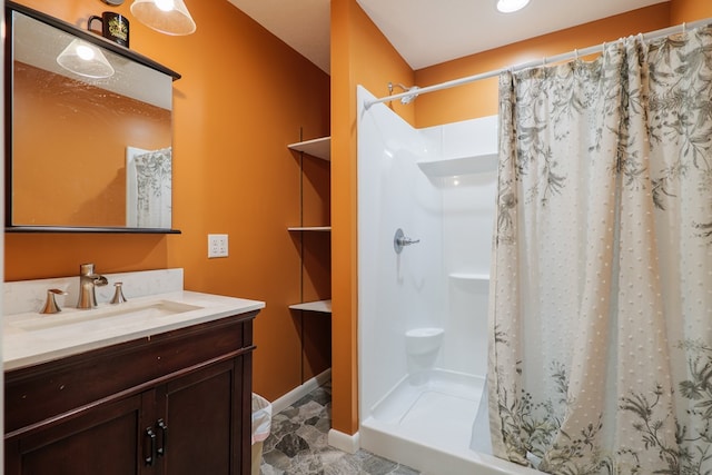
[[366,451],[347,454],[329,447],[330,383],[273,415],[263,447],[261,475],[418,475],[419,472]]

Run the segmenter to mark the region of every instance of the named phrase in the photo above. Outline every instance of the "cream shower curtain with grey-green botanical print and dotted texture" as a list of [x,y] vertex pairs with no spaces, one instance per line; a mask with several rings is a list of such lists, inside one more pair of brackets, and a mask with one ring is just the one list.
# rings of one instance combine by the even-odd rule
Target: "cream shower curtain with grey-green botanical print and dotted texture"
[[500,78],[494,454],[712,471],[712,29]]

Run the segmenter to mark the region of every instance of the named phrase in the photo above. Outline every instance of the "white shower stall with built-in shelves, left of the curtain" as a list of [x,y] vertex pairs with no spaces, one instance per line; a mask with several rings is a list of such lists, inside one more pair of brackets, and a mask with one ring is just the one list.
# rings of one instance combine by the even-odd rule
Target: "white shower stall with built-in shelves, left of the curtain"
[[[373,99],[358,88],[360,446],[426,474],[528,473],[487,455],[497,118],[415,129]],[[442,330],[431,359],[413,330]]]

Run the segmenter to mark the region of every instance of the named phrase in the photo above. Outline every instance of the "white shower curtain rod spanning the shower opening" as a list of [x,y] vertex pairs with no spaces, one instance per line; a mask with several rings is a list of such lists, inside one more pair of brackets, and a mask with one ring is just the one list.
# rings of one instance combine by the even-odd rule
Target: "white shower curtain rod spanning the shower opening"
[[[702,26],[708,26],[712,23],[712,18],[708,18],[704,20],[698,20],[698,21],[693,21],[691,23],[682,23],[682,24],[678,24],[674,27],[669,27],[669,28],[663,28],[662,30],[655,30],[655,31],[651,31],[649,33],[643,33],[643,40],[644,41],[651,41],[661,37],[666,37],[669,34],[674,34],[674,33],[679,33],[679,32],[684,32],[686,28],[693,29],[693,28],[698,28],[698,27],[702,27]],[[566,61],[570,59],[574,59],[574,58],[578,58],[580,56],[587,56],[587,55],[594,55],[597,52],[603,51],[603,47],[605,46],[606,42],[603,42],[601,44],[596,44],[596,46],[592,46],[589,48],[584,48],[584,49],[576,49],[573,51],[568,51],[562,55],[557,55],[557,56],[552,56],[552,57],[544,57],[542,59],[537,59],[534,61],[528,61],[528,62],[523,62],[521,65],[516,65],[516,66],[511,66],[507,68],[501,68],[501,69],[495,69],[493,71],[487,71],[487,72],[482,72],[479,75],[474,75],[474,76],[467,76],[465,78],[459,78],[459,79],[453,79],[452,81],[445,81],[445,82],[441,82],[439,85],[434,85],[434,86],[427,86],[424,88],[417,88],[415,90],[409,90],[409,91],[405,91],[405,92],[399,92],[397,95],[393,95],[393,96],[386,96],[383,97],[380,99],[373,99],[373,100],[367,100],[365,101],[365,108],[368,109],[370,106],[376,105],[376,103],[380,103],[380,102],[387,102],[389,100],[394,100],[394,99],[400,99],[404,98],[406,96],[413,96],[415,95],[422,95],[422,93],[427,93],[427,92],[435,92],[435,91],[439,91],[443,89],[449,89],[449,88],[454,88],[457,86],[463,86],[463,85],[468,85],[471,82],[476,82],[479,81],[482,79],[488,79],[488,78],[493,78],[495,76],[500,76],[501,73],[505,72],[505,71],[520,71],[522,69],[527,69],[527,68],[535,68],[537,66],[544,66],[546,63],[550,62],[558,62],[558,61]]]

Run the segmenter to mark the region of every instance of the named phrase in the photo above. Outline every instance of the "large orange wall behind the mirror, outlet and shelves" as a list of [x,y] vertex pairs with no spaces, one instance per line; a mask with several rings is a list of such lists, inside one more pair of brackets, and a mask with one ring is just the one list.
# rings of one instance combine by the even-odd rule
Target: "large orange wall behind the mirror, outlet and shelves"
[[[187,0],[198,24],[187,37],[144,27],[130,1],[22,3],[82,28],[90,14],[122,12],[131,49],[182,75],[174,83],[174,227],[182,234],[7,234],[6,279],[73,276],[80,263],[100,273],[182,267],[187,289],[267,303],[255,324],[257,393],[274,399],[294,389],[303,362],[306,375],[328,367],[328,320],[305,324],[319,336],[309,336],[303,358],[307,317],[287,309],[299,300],[303,273],[298,238],[286,230],[300,219],[299,160],[286,145],[299,140],[300,128],[305,139],[329,133],[328,75],[227,0]],[[328,215],[319,204],[328,180],[326,191],[323,185],[323,178],[307,182],[305,192]],[[207,259],[209,232],[229,235],[228,258]],[[328,294],[323,276],[304,276],[305,295]]]

